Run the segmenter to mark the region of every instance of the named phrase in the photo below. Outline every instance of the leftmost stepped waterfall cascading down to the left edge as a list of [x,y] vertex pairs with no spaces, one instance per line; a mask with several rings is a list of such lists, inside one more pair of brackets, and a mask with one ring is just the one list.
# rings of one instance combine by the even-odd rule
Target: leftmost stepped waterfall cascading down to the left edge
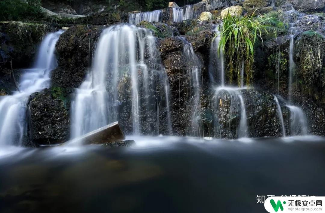
[[20,92],[0,97],[0,145],[21,145],[27,136],[28,98],[32,93],[50,87],[50,71],[57,67],[55,45],[63,32],[45,36],[33,68],[23,70]]

